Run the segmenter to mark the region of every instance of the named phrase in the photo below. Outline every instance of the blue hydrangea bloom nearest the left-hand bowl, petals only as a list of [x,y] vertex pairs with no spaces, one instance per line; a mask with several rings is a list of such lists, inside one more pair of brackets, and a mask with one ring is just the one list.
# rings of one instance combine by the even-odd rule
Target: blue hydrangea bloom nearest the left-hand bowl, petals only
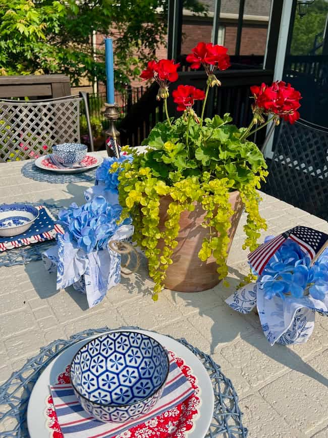
[[[60,210],[58,216],[65,229],[64,240],[85,253],[106,247],[119,225],[122,207],[108,204],[103,196],[93,198],[81,207],[72,204]],[[123,224],[131,221],[124,221]]]

